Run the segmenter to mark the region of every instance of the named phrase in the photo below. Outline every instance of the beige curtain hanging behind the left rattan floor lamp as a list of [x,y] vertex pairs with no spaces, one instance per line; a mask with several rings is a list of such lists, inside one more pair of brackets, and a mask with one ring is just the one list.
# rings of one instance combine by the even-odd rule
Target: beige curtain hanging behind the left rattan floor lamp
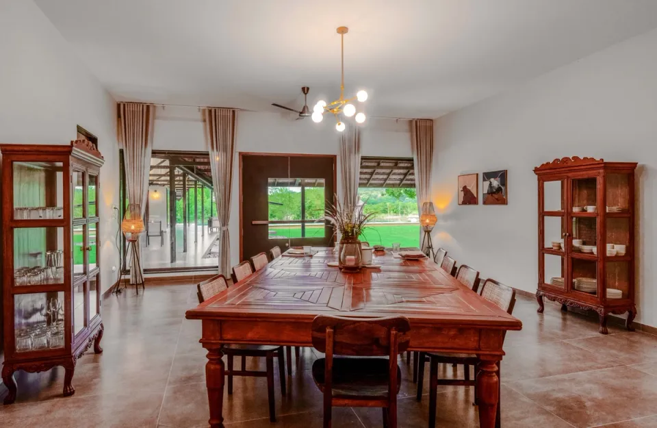
[[[155,105],[118,103],[118,142],[123,149],[128,203],[131,209],[139,210],[142,218],[146,207],[146,197],[149,194],[154,121]],[[139,245],[138,251],[141,255]],[[142,266],[140,269],[136,269],[136,263],[131,258],[130,284],[139,284],[143,281]]]

